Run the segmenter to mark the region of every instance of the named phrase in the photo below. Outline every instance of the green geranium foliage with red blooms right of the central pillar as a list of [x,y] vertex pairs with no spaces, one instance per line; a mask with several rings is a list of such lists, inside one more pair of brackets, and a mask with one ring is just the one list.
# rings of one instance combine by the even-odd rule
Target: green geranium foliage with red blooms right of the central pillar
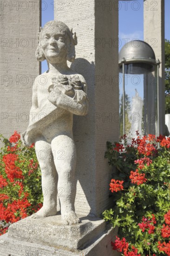
[[[165,138],[163,140],[167,143]],[[117,180],[124,181],[124,189],[113,191],[113,207],[105,210],[104,219],[111,222],[114,228],[117,226],[118,237],[125,238],[129,248],[134,246],[141,256],[151,256],[154,253],[164,255],[157,245],[158,241],[170,241],[170,236],[162,236],[164,215],[170,210],[170,140],[168,146],[161,142],[162,146],[157,148],[156,139],[151,141],[150,138],[143,139],[138,136],[131,145],[123,144],[121,152],[118,148],[122,142],[124,141],[120,141],[120,144],[107,142],[105,158],[115,168],[112,182],[115,185],[118,184]],[[134,162],[137,159],[143,159],[141,167],[140,162]],[[135,179],[130,175],[136,169],[136,174],[143,174],[146,181],[143,179],[141,183],[140,180],[134,182]],[[135,177],[139,179],[137,175]],[[153,222],[153,216],[156,223]],[[138,224],[144,223],[144,218],[154,226],[153,230],[149,227],[144,230],[140,228]]]

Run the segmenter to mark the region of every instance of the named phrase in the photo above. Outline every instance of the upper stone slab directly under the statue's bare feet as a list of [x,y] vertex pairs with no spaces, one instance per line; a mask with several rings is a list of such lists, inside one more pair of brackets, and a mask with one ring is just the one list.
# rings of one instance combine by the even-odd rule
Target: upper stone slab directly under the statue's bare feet
[[80,221],[79,224],[64,225],[61,215],[41,219],[27,217],[10,225],[8,236],[49,246],[82,249],[105,232],[105,221],[96,218],[80,218]]

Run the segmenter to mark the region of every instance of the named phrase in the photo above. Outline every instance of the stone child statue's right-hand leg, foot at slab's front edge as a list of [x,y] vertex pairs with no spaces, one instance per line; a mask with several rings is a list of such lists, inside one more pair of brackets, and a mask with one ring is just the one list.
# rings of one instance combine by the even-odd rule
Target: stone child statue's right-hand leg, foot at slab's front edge
[[54,163],[59,175],[58,189],[63,193],[59,196],[61,203],[61,216],[65,224],[78,223],[79,219],[74,211],[76,195],[76,147],[71,137],[59,135],[52,140],[52,153]]

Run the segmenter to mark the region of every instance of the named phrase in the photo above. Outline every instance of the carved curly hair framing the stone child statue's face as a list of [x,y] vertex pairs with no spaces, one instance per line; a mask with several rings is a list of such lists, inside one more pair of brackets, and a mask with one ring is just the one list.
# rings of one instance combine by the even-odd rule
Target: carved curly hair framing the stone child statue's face
[[70,45],[69,45],[69,49],[68,49],[68,54],[67,54],[67,60],[70,62],[73,62],[75,60],[76,57],[76,53],[75,53],[75,45],[77,45],[77,37],[76,37],[76,33],[72,34],[72,30],[70,30],[65,23],[61,22],[61,21],[56,21],[56,20],[51,20],[48,21],[43,28],[40,27],[40,32],[39,32],[39,37],[38,37],[38,47],[36,49],[35,52],[35,56],[37,58],[38,61],[44,61],[46,60],[45,55],[43,54],[42,51],[42,47],[40,46],[40,41],[42,39],[42,32],[44,29],[55,29],[56,27],[59,28],[59,30],[61,31],[61,33],[64,36],[67,36],[70,39]]

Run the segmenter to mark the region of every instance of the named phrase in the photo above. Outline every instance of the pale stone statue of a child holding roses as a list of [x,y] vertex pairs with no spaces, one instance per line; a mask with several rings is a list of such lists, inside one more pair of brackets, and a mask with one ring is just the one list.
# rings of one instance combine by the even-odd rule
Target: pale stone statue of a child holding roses
[[38,61],[46,59],[49,69],[36,77],[30,123],[21,139],[26,146],[35,142],[42,173],[43,207],[32,217],[57,214],[57,188],[61,216],[65,224],[78,223],[74,202],[76,182],[76,147],[72,135],[73,114],[86,115],[86,82],[67,66],[75,59],[76,34],[60,21],[49,21],[39,33]]

